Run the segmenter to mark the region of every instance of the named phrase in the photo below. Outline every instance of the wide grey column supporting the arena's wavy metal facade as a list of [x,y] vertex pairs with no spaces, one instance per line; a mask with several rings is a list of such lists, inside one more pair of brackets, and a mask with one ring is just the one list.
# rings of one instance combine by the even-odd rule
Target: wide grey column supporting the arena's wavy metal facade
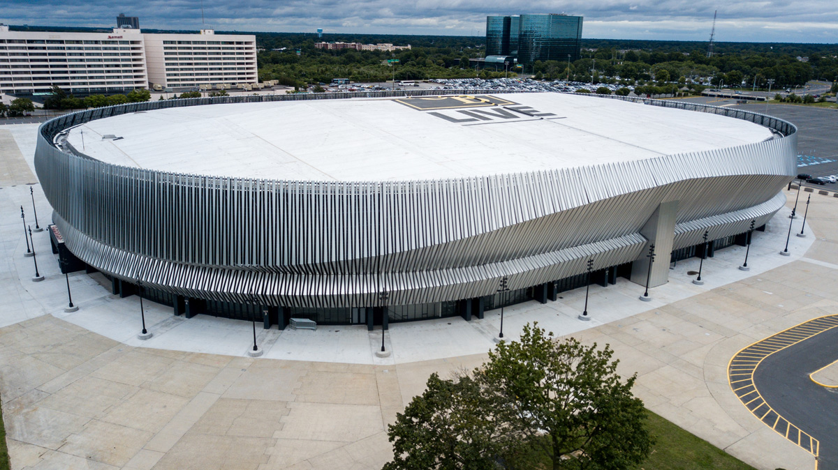
[[675,238],[675,217],[678,215],[678,202],[661,202],[652,217],[646,221],[640,234],[647,242],[640,251],[640,258],[634,261],[631,266],[631,281],[642,286],[646,285],[646,275],[649,273],[649,246],[654,243],[656,262],[652,264],[652,273],[649,277],[649,288],[666,284],[670,277],[670,253],[672,253],[672,242]]

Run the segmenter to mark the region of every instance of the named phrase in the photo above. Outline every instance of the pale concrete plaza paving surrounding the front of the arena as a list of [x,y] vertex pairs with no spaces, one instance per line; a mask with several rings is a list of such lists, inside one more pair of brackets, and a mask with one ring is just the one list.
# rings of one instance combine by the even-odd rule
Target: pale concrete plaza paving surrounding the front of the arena
[[[13,135],[31,155],[27,134]],[[158,330],[143,346],[153,347],[139,347],[136,299],[112,299],[95,276],[71,277],[81,309],[59,318],[65,284],[43,233],[35,244],[47,280],[28,279],[23,228],[8,209],[25,204],[24,189],[0,190],[0,396],[15,469],[380,467],[391,457],[386,424],[427,375],[479,365],[496,335],[494,312],[392,325],[394,356],[376,362],[378,331],[270,330],[260,341],[274,359],[252,360],[242,357],[249,325],[184,321],[161,307],[148,315]],[[755,236],[749,273],[736,268],[742,250],[728,248],[705,263],[704,286],[689,284],[691,260],[653,289],[651,304],[636,301],[642,289],[629,282],[592,289],[587,330],[575,320],[577,289],[506,309],[504,333],[515,338],[538,320],[608,343],[621,373],[638,373],[635,392],[653,411],[759,468],[809,470],[812,455],[760,422],[727,383],[738,350],[838,308],[838,199],[813,197],[807,222],[818,238],[792,236],[791,259],[778,254],[788,222],[775,217]]]

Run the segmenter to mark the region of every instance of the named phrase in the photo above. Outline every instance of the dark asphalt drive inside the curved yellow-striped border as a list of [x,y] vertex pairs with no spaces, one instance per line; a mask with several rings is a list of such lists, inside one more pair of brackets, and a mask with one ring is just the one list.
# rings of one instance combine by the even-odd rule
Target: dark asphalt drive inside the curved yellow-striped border
[[810,373],[838,360],[838,328],[826,330],[769,355],[753,374],[763,399],[780,416],[820,441],[818,470],[838,470],[838,389]]

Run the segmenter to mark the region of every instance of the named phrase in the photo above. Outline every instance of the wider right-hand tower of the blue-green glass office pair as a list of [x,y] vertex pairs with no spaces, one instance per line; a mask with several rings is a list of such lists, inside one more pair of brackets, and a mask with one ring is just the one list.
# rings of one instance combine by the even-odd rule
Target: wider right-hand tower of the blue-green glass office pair
[[558,14],[520,15],[518,62],[579,59],[582,17]]

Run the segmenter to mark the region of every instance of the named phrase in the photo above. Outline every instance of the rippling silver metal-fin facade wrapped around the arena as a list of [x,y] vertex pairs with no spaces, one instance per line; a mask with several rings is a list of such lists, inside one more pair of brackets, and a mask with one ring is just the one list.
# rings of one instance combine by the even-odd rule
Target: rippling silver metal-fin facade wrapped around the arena
[[[349,97],[437,95],[427,91]],[[448,94],[449,92],[447,92]],[[457,91],[450,93],[458,93]],[[463,90],[461,94],[498,94]],[[727,115],[775,137],[716,151],[436,181],[271,181],[116,166],[55,144],[90,120],[178,106],[337,99],[287,95],[155,101],[85,110],[39,128],[35,168],[72,253],[113,278],[189,299],[308,309],[429,304],[630,263],[661,202],[673,248],[746,232],[784,204],[796,128],[750,111],[592,96]],[[603,181],[608,181],[603,184]]]

